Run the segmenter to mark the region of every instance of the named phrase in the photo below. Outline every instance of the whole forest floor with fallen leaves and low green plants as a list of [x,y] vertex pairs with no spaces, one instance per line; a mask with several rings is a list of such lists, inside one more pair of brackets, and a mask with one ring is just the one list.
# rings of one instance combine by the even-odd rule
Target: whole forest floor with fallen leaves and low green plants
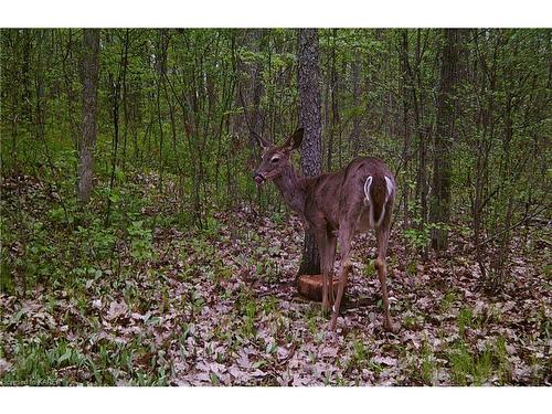
[[[148,195],[153,178],[134,180],[144,223],[177,214],[167,193]],[[395,223],[389,289],[402,329],[394,335],[382,328],[374,237],[358,236],[348,299],[328,332],[320,304],[295,286],[296,217],[242,206],[215,214],[202,232],[135,221],[124,233],[98,224],[93,234],[64,224],[51,185],[26,176],[1,185],[2,385],[552,383],[548,243],[527,256],[517,238],[510,277],[490,295],[461,232],[453,227],[444,258],[422,261]],[[103,243],[115,255],[100,257]]]

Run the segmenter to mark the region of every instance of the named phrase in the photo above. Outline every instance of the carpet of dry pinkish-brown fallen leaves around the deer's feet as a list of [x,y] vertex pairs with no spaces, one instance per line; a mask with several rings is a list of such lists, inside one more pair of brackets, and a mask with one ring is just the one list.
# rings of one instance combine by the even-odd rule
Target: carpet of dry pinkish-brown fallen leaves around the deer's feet
[[[382,329],[378,278],[365,272],[373,235],[358,236],[338,329],[327,332],[320,305],[295,287],[298,219],[274,221],[244,205],[215,220],[209,235],[155,229],[156,254],[146,263],[123,248],[126,288],[114,288],[106,273],[87,283],[81,300],[45,286],[28,298],[1,293],[0,383],[18,364],[21,338],[46,347],[63,339],[89,361],[106,344],[128,349],[130,363],[112,368],[116,384],[136,383],[140,369],[162,371],[171,385],[450,385],[464,384],[463,358],[471,365],[490,358],[493,372],[482,383],[552,381],[551,295],[538,262],[514,257],[514,276],[488,295],[469,255],[422,263],[395,225],[389,294],[402,329],[393,335]],[[464,367],[466,384],[477,375],[471,365]],[[91,365],[56,370],[65,383],[94,383]]]

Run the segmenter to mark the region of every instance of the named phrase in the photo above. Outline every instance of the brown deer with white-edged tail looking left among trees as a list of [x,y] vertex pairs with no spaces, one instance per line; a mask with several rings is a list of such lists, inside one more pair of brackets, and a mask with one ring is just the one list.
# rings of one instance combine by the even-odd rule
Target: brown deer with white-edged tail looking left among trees
[[[336,328],[341,298],[351,269],[350,250],[355,233],[375,229],[378,258],[375,267],[383,296],[384,328],[397,331],[389,312],[385,285],[385,254],[395,197],[395,179],[378,158],[357,158],[349,166],[333,173],[317,177],[297,177],[290,162],[290,153],[302,141],[302,128],[297,129],[284,145],[276,147],[253,132],[263,149],[263,159],[254,173],[258,185],[273,181],[286,203],[298,212],[305,230],[315,235],[320,254],[322,273],[322,311],[333,312],[330,329]],[[333,262],[336,242],[341,250],[341,266],[338,295],[333,296]],[[336,299],[333,301],[333,299]]]

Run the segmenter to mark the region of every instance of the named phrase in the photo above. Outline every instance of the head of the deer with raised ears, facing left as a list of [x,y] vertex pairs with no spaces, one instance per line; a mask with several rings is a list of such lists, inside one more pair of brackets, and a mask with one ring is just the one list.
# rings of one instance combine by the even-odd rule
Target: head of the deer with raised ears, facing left
[[253,179],[258,185],[267,180],[278,178],[282,172],[289,168],[289,156],[294,149],[299,148],[302,141],[304,129],[298,128],[282,146],[276,147],[259,135],[252,132],[257,144],[263,149],[261,164],[255,170]]

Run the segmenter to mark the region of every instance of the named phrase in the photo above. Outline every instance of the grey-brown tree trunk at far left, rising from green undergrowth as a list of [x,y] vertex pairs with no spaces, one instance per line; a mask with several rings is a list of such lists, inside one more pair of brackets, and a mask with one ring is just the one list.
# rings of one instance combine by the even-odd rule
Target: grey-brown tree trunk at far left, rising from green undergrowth
[[79,142],[78,199],[87,203],[91,198],[96,144],[98,100],[99,29],[83,30],[83,134]]

